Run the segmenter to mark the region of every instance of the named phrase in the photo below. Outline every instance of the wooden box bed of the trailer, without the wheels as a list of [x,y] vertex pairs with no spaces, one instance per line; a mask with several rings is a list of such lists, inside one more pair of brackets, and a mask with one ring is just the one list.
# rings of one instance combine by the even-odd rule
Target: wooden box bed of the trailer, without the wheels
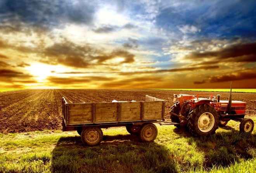
[[146,95],[145,101],[67,103],[62,97],[63,131],[79,126],[125,126],[134,122],[164,120],[166,101]]

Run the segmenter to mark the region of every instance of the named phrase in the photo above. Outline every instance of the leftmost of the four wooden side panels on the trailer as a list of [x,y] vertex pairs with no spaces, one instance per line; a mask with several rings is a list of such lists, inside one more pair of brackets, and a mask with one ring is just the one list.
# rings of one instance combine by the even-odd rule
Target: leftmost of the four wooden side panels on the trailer
[[92,103],[69,104],[69,124],[92,123]]

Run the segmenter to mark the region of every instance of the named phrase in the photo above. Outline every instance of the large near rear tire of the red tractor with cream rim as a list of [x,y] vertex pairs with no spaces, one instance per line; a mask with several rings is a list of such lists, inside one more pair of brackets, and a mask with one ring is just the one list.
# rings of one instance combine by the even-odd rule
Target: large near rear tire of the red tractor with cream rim
[[198,105],[189,116],[189,131],[195,136],[209,136],[218,129],[219,116],[210,105]]

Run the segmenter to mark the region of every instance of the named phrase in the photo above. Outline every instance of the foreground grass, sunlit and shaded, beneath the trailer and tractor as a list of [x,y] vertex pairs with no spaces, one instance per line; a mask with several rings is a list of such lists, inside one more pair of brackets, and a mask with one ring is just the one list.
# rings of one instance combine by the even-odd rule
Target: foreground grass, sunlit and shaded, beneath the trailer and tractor
[[103,141],[95,147],[84,146],[77,132],[0,134],[0,173],[256,172],[256,130],[240,134],[239,122],[209,137],[174,126],[157,129],[152,143],[139,142],[125,127],[102,129]]

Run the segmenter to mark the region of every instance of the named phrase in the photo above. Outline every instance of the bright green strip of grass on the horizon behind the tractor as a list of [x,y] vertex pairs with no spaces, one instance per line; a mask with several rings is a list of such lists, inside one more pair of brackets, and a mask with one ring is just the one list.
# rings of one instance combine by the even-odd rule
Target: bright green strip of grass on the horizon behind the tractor
[[[147,90],[174,90],[174,91],[198,91],[198,92],[230,92],[230,89],[147,89]],[[256,89],[232,89],[234,93],[256,93]]]

